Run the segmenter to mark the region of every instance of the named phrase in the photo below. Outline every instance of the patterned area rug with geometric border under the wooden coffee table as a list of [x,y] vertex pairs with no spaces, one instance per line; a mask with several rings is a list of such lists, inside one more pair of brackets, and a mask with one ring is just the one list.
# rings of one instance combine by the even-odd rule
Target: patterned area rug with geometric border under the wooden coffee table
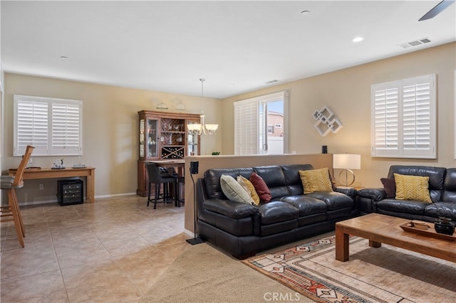
[[[390,245],[350,239],[350,260],[335,260],[334,236],[244,260],[316,302],[455,302],[455,263]],[[455,246],[456,248],[456,246]]]

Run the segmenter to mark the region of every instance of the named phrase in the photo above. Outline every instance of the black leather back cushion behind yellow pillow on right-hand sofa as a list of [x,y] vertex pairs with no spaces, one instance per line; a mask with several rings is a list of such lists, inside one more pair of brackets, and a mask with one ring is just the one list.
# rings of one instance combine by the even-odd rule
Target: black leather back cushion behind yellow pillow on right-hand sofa
[[441,201],[443,193],[443,181],[447,169],[444,167],[432,166],[411,166],[411,165],[392,165],[388,172],[388,178],[393,178],[394,174],[411,176],[429,176],[429,193],[432,202]]

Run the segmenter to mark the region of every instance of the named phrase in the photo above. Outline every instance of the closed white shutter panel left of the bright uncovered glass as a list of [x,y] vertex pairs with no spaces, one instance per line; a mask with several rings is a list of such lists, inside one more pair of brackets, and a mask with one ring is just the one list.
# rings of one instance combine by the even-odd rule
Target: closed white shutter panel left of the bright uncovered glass
[[234,154],[258,154],[257,100],[234,102]]

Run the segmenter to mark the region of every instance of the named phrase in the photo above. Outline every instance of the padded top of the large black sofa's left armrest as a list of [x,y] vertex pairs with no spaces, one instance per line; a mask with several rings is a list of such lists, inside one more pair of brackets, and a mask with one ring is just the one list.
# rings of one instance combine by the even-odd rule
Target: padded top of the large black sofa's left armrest
[[257,206],[219,198],[206,200],[202,206],[208,211],[214,211],[233,219],[257,216],[259,214]]

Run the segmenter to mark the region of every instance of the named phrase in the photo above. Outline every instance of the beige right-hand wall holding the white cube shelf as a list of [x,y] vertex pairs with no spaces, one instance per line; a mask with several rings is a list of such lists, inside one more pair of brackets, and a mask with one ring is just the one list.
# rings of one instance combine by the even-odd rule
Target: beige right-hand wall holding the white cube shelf
[[[321,145],[327,145],[332,154],[361,154],[355,186],[381,187],[379,179],[392,164],[455,167],[455,60],[456,43],[448,43],[224,99],[223,154],[234,152],[234,101],[289,90],[288,150],[309,154],[321,152]],[[371,85],[432,73],[437,74],[437,159],[371,158]],[[343,124],[338,133],[326,137],[316,132],[312,117],[323,105]]]

